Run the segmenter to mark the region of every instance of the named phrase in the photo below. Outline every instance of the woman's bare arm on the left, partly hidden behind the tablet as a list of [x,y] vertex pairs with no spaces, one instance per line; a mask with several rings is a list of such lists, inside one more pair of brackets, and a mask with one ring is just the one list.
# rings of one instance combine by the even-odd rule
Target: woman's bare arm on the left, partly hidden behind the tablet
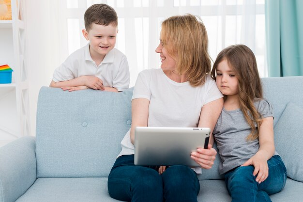
[[132,100],[132,126],[131,126],[131,142],[135,145],[135,128],[136,126],[147,126],[148,108],[150,101],[145,98],[136,98]]

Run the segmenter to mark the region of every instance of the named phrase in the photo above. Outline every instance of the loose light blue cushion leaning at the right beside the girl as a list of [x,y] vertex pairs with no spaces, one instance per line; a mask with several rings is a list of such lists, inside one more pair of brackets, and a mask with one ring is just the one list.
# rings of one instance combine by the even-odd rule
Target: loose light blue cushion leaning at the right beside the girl
[[303,182],[303,109],[289,102],[274,127],[276,151],[287,168],[288,177]]

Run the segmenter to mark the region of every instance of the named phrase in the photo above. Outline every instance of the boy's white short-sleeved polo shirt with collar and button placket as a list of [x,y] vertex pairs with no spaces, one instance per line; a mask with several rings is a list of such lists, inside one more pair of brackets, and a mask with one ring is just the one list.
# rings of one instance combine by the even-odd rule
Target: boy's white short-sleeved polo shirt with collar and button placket
[[116,48],[109,51],[99,66],[92,60],[90,43],[72,53],[54,72],[53,81],[68,81],[80,76],[97,76],[103,86],[123,91],[129,87],[126,56]]

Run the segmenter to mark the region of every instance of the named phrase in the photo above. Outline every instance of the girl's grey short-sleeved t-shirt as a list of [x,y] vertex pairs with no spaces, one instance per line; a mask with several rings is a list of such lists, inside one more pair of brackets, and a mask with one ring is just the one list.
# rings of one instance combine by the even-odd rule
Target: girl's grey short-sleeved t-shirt
[[[261,117],[273,117],[273,107],[267,100],[256,101],[254,104]],[[240,109],[227,111],[223,108],[213,130],[222,159],[219,166],[220,174],[242,165],[258,152],[258,139],[246,141],[250,132],[251,128]]]

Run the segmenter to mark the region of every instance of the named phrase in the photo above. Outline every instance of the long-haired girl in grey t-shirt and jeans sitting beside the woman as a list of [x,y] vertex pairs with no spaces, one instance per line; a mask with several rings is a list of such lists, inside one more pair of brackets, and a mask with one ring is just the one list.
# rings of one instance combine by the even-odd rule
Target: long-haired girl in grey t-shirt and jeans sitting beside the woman
[[286,183],[284,163],[274,150],[273,109],[262,95],[254,53],[245,45],[222,50],[212,78],[224,95],[213,130],[233,202],[268,202]]

